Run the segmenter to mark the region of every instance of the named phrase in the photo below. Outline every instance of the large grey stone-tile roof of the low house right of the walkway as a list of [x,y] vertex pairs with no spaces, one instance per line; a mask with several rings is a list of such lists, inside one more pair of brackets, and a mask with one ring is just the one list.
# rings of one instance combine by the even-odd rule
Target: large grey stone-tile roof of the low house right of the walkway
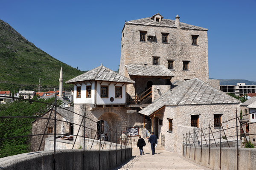
[[239,102],[239,100],[213,88],[200,79],[191,79],[179,82],[172,91],[166,92],[154,103],[139,111],[139,113],[149,116],[166,105],[228,104]]

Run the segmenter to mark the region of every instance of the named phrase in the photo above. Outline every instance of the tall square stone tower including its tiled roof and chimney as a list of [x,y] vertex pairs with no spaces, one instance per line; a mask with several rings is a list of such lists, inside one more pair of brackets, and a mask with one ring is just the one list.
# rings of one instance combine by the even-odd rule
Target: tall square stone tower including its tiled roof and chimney
[[[158,13],[125,22],[119,74],[136,82],[134,87],[128,86],[128,94],[140,94],[147,88],[147,82],[166,85],[169,80],[175,82],[193,78],[209,82],[207,31],[207,28],[181,23],[178,15],[175,20],[169,20]],[[162,69],[163,73],[173,73],[169,80],[164,81],[168,77],[157,72],[160,66],[166,68]],[[147,68],[148,74],[141,76]],[[151,72],[155,74],[151,75]]]

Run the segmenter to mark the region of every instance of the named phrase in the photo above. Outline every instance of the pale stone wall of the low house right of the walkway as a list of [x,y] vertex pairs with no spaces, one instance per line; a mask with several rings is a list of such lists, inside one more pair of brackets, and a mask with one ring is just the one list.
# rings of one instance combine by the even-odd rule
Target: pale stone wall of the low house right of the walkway
[[[199,115],[199,128],[202,126],[202,129],[205,129],[208,127],[208,122],[210,126],[213,126],[214,114],[222,114],[221,122],[225,122],[236,117],[236,108],[239,110],[239,107],[239,105],[235,104],[166,106],[164,114],[158,116],[160,119],[163,119],[163,126],[160,127],[160,133],[165,134],[165,149],[172,152],[181,152],[182,147],[180,147],[180,144],[182,144],[183,140],[180,137],[182,133],[180,134],[178,125],[191,126],[191,115]],[[172,133],[167,132],[169,129],[168,119],[173,119]],[[222,126],[224,129],[235,127],[236,119],[223,123]],[[214,133],[215,131],[219,131],[219,129],[212,127],[212,132]],[[208,129],[204,133],[208,133]],[[236,135],[236,128],[225,130],[225,133],[227,136]],[[219,133],[214,133],[214,136],[218,138]],[[224,136],[223,132],[221,136]]]

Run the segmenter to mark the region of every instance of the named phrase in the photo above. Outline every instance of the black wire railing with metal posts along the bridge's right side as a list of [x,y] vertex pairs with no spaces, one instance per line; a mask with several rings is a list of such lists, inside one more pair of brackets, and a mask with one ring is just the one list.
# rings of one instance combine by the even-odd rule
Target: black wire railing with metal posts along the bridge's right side
[[[202,162],[202,148],[203,147],[207,147],[209,148],[208,150],[208,165],[210,164],[210,148],[211,147],[219,147],[220,151],[219,151],[219,167],[221,168],[221,147],[222,144],[225,144],[225,147],[236,147],[237,148],[237,170],[239,168],[239,145],[241,143],[239,143],[239,137],[240,139],[242,137],[244,137],[247,146],[249,146],[250,142],[247,139],[247,136],[252,136],[252,135],[256,135],[256,133],[245,133],[246,130],[244,129],[244,125],[241,122],[241,118],[242,116],[250,116],[250,114],[252,113],[256,113],[255,112],[251,112],[251,113],[247,113],[244,115],[237,115],[237,109],[236,109],[236,117],[229,119],[227,121],[224,122],[219,122],[218,124],[212,125],[210,126],[210,122],[208,123],[208,127],[206,128],[202,128],[202,125],[200,127],[200,129],[198,128],[197,130],[194,129],[193,132],[189,131],[186,133],[183,133],[183,149],[184,146],[186,146],[186,151],[185,151],[185,156],[187,156],[187,147],[189,147],[189,158],[191,158],[191,147],[194,146],[194,159],[195,159],[195,154],[196,154],[196,148],[201,147],[201,152],[200,152],[200,162]],[[236,122],[234,122],[236,120]],[[231,122],[233,121],[233,122]],[[235,123],[235,124],[234,124]],[[256,122],[251,122],[251,123],[247,123],[247,125],[251,125],[251,124],[255,124]],[[228,127],[224,129],[223,125],[231,125],[231,127]],[[232,126],[233,125],[233,126]],[[240,130],[239,130],[240,128]],[[212,131],[212,129],[214,129],[215,131]],[[230,134],[229,136],[227,135],[227,131],[230,131],[232,129],[235,129],[235,133],[228,133]],[[236,139],[232,140],[232,138],[236,137]],[[224,141],[226,140],[226,141]],[[235,141],[235,142],[234,142]],[[233,144],[231,144],[231,142],[233,142]],[[184,153],[184,150],[183,150]]]

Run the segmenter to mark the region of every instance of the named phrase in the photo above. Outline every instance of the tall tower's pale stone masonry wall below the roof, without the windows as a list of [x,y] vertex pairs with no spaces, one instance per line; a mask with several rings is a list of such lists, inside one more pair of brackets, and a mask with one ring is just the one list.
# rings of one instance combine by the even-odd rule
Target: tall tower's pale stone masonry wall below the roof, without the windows
[[[154,29],[155,40],[140,42],[140,31],[149,28]],[[161,33],[169,33],[168,43],[162,43]],[[122,35],[120,74],[128,77],[125,65],[153,65],[154,56],[160,57],[160,65],[166,68],[168,60],[174,60],[172,81],[192,78],[209,81],[207,31],[125,24]],[[192,45],[191,35],[198,35],[198,45]],[[183,71],[183,60],[190,61],[189,71]]]

